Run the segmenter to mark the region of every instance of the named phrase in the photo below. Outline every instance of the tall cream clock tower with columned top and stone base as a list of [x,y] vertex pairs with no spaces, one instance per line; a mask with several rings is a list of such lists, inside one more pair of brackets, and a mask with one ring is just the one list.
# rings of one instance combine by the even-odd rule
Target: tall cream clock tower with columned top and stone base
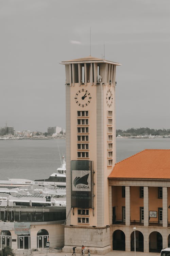
[[119,63],[85,57],[66,69],[66,225],[63,252],[111,250],[111,189],[116,161],[115,73]]

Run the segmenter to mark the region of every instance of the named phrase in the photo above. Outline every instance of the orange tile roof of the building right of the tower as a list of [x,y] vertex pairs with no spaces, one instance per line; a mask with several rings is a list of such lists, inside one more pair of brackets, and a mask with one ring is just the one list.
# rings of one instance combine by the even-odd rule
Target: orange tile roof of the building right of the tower
[[116,163],[108,178],[170,179],[170,150],[143,150]]

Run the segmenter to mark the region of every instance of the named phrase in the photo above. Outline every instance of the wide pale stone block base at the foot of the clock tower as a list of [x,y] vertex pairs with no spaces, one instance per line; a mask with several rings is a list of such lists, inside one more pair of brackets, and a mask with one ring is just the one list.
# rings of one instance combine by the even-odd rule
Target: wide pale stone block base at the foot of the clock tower
[[65,245],[64,253],[82,253],[81,247],[85,246],[85,253],[88,249],[91,254],[106,254],[111,251],[110,227],[80,227],[65,226],[64,228]]

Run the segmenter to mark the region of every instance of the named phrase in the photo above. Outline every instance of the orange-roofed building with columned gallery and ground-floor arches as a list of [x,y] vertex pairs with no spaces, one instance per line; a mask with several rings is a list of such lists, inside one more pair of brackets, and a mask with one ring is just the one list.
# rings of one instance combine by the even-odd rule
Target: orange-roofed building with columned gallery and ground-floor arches
[[[170,150],[144,150],[109,175],[112,250],[160,252],[170,246]],[[134,232],[136,241],[134,241]]]

